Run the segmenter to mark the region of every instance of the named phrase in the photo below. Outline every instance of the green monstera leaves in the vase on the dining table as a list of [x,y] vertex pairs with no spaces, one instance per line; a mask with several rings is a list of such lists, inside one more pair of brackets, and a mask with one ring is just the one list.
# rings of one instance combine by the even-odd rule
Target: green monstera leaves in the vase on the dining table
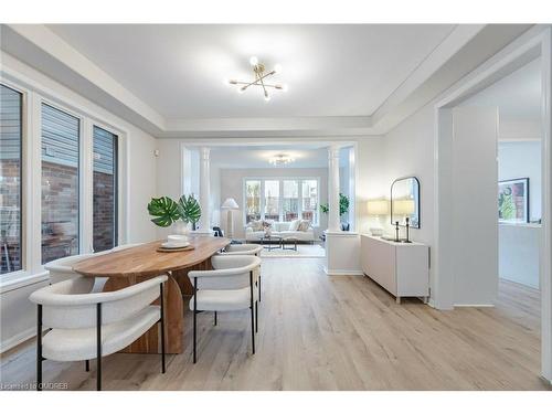
[[170,197],[152,198],[148,204],[148,213],[152,215],[151,221],[160,227],[168,227],[179,220],[195,224],[201,217],[201,208],[198,200],[190,195],[182,195],[179,201]]

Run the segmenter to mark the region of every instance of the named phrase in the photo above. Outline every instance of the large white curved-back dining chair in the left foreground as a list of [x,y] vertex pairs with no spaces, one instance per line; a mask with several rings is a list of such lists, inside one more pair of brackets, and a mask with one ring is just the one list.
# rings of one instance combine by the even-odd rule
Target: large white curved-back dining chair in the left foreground
[[[161,327],[161,372],[164,373],[163,283],[158,276],[127,288],[93,293],[93,279],[77,277],[31,294],[36,304],[36,390],[42,389],[42,362],[96,358],[96,389],[102,390],[102,357],[115,353],[156,323]],[[160,306],[151,305],[159,298]],[[50,330],[42,336],[43,329]]]

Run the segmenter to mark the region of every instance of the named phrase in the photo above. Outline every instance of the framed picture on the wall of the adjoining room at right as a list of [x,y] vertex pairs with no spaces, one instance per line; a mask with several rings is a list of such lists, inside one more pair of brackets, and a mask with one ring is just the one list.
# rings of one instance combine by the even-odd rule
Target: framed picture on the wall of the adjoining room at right
[[529,178],[498,182],[498,221],[529,223]]

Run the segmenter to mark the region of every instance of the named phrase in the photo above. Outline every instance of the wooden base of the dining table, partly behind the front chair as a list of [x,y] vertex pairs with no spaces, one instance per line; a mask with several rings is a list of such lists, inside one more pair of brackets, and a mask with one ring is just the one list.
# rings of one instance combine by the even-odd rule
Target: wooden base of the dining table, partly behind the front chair
[[[119,290],[125,287],[135,285],[137,283],[147,280],[148,277],[110,277],[104,291]],[[166,335],[167,335],[167,353],[182,353],[183,332],[184,332],[184,308],[182,294],[180,287],[172,276],[169,275],[163,289],[164,295],[164,319],[166,319]],[[159,305],[159,299],[155,301]],[[146,333],[134,341],[130,346],[120,352],[129,353],[160,353],[160,329],[159,325],[152,326]]]

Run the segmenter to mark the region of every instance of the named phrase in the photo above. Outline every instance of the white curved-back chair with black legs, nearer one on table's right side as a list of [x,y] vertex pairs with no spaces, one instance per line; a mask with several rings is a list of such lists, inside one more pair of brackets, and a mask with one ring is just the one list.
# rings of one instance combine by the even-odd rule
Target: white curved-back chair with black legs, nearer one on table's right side
[[[255,353],[255,331],[258,330],[257,289],[254,289],[254,272],[261,258],[252,255],[211,257],[213,270],[191,270],[188,277],[193,285],[190,310],[193,312],[193,363],[197,361],[198,312],[216,312],[251,309],[252,353]],[[257,314],[257,316],[256,316]]]

